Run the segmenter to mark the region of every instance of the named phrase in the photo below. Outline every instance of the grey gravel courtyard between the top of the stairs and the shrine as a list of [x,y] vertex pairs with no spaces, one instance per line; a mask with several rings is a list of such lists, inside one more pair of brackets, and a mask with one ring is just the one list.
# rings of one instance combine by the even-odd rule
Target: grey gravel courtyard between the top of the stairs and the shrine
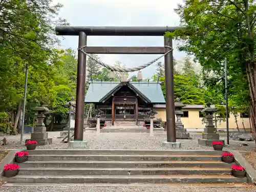
[[[60,132],[49,132],[49,137],[53,138],[51,145],[38,146],[38,149],[58,149],[68,148],[67,143],[60,143],[62,139],[58,139]],[[211,146],[198,145],[198,138],[201,134],[190,133],[193,139],[177,140],[182,143],[180,150],[212,150]],[[29,139],[30,134],[24,135],[25,139]],[[221,138],[225,139],[221,134]],[[8,136],[8,145],[0,146],[2,149],[25,149],[25,145],[19,144],[20,136]],[[96,136],[96,132],[85,132],[84,140],[88,141],[91,149],[140,149],[140,150],[164,150],[162,141],[166,141],[166,134],[156,133],[154,137],[150,137],[148,133],[100,133]],[[229,146],[225,146],[223,150],[239,150],[239,151],[254,151],[255,143],[246,142],[248,146],[241,146],[241,141],[230,140]],[[166,148],[167,149],[167,148]]]

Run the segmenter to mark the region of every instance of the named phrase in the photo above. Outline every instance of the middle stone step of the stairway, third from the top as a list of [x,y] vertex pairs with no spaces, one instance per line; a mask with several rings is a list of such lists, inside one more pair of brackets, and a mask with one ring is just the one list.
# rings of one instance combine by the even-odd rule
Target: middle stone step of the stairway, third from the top
[[221,161],[26,161],[19,163],[25,167],[103,167],[103,168],[138,168],[138,167],[202,167],[231,168],[232,163]]

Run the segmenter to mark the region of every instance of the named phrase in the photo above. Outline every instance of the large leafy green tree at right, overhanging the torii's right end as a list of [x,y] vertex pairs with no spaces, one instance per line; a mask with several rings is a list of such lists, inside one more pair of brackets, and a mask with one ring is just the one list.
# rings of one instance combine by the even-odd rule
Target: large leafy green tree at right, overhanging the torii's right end
[[[167,33],[183,40],[179,50],[194,54],[201,64],[205,82],[224,82],[224,58],[228,61],[230,94],[243,92],[241,102],[250,105],[256,133],[255,1],[184,1],[176,12],[185,30]],[[237,90],[237,91],[235,91]],[[248,94],[248,95],[247,95]]]

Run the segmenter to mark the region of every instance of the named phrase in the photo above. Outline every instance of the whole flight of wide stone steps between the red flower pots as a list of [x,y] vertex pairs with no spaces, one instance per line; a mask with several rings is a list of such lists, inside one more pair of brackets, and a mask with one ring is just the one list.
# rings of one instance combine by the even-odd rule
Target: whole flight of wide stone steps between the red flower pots
[[217,151],[35,150],[8,183],[247,183]]

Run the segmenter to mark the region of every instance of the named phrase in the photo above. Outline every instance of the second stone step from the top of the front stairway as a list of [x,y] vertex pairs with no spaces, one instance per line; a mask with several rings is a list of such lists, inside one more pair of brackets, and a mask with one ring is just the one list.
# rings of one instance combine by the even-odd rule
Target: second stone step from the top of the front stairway
[[219,155],[29,155],[29,161],[221,161]]

